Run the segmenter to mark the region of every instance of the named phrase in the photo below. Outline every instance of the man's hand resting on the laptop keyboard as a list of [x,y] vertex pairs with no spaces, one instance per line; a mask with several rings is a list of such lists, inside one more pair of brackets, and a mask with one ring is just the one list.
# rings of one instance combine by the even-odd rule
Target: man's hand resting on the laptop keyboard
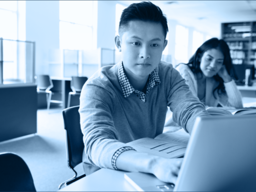
[[161,181],[176,184],[183,158],[166,159],[159,157],[153,166],[152,173]]

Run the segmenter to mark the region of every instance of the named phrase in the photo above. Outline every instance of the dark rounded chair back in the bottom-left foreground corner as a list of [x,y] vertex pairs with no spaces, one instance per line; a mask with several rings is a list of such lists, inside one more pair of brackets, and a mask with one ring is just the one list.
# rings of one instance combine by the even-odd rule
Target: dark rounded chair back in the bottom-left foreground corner
[[28,165],[14,153],[0,154],[0,183],[1,192],[36,192]]

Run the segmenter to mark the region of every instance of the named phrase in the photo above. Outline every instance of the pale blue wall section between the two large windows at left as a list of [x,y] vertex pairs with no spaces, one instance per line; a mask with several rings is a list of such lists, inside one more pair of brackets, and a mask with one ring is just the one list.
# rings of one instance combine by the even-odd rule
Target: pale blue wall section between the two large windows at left
[[59,0],[26,1],[26,40],[36,42],[36,74],[48,74],[49,49],[59,49]]

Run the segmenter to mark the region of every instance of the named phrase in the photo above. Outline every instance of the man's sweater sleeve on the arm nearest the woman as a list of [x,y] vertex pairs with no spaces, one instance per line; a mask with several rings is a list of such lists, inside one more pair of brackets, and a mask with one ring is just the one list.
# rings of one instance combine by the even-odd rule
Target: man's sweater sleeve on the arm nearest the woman
[[191,134],[198,116],[210,116],[205,106],[189,90],[186,81],[176,69],[171,71],[171,84],[167,96],[167,105],[173,111],[173,120]]

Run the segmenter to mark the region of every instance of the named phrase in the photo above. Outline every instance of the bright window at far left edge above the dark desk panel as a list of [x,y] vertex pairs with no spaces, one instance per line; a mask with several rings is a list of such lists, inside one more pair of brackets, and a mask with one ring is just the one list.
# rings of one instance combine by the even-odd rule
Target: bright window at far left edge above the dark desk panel
[[3,79],[4,84],[31,81],[27,79],[30,75],[27,69],[30,67],[26,66],[29,48],[26,48],[25,42],[13,41],[26,38],[25,3],[24,0],[0,0],[0,38],[4,39],[3,55],[0,55],[0,60],[3,60],[0,80]]

